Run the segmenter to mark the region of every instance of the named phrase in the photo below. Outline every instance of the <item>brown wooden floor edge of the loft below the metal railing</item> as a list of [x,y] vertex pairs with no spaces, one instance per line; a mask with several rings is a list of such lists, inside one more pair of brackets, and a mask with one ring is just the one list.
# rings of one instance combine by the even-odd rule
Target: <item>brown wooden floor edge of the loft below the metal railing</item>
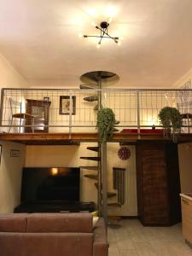
[[[29,145],[76,145],[81,142],[97,142],[97,133],[0,133],[1,141],[12,141]],[[138,141],[172,141],[162,135],[150,134],[122,134],[117,133],[108,142],[128,142],[136,144]],[[177,139],[178,143],[192,142],[192,134],[183,134]]]

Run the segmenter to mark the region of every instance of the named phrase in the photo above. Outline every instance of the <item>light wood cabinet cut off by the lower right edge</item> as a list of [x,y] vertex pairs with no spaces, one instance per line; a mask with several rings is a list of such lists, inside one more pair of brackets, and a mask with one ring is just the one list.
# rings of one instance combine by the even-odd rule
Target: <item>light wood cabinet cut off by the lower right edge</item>
[[183,236],[192,244],[192,196],[181,194],[181,202]]

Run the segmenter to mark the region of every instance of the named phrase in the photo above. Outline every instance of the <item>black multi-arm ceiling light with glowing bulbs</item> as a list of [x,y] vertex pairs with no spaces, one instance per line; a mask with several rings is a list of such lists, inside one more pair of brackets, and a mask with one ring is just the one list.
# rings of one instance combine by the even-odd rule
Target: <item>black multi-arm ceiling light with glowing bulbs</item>
[[108,26],[109,23],[107,21],[102,21],[102,23],[100,24],[100,26],[95,26],[96,29],[98,29],[100,31],[100,36],[88,36],[88,35],[84,35],[84,38],[100,38],[99,42],[97,44],[97,47],[99,48],[100,44],[102,44],[102,38],[108,38],[108,39],[112,39],[116,44],[119,44],[119,37],[111,37],[108,34]]

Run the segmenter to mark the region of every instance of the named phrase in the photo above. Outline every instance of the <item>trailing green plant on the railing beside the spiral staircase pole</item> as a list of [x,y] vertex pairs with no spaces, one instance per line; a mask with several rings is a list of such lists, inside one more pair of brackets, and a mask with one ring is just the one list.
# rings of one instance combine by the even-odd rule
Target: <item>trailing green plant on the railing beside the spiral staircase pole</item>
[[115,125],[115,115],[111,108],[101,108],[97,113],[96,129],[99,132],[99,141],[104,143],[112,137]]

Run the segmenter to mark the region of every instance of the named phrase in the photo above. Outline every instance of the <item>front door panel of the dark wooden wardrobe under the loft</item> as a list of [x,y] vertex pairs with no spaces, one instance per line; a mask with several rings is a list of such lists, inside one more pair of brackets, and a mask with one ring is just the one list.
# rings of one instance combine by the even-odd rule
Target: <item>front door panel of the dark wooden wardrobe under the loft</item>
[[169,206],[164,150],[142,150],[144,224],[168,224]]

